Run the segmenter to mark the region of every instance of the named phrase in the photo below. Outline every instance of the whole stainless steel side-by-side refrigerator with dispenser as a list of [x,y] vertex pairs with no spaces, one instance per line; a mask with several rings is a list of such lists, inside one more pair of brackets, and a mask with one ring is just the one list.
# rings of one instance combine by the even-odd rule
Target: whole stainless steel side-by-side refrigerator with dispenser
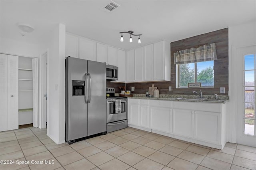
[[106,63],[66,58],[65,139],[106,134]]

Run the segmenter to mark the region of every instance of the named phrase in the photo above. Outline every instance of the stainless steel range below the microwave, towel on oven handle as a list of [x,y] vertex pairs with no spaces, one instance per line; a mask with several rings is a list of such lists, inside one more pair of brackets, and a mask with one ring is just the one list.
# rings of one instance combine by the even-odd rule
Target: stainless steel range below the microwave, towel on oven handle
[[107,96],[107,132],[128,127],[127,97],[115,97],[115,89],[106,88]]

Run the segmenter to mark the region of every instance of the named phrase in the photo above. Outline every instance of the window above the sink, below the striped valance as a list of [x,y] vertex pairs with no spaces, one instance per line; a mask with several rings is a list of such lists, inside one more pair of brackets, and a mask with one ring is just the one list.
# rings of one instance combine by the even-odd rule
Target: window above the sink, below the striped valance
[[188,83],[201,83],[202,87],[214,87],[214,61],[177,64],[178,88],[188,87]]

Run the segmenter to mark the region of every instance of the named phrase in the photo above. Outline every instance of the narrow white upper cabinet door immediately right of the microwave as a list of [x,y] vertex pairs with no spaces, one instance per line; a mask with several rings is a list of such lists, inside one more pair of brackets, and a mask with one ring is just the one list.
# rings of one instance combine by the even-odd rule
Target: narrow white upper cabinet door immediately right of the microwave
[[125,75],[125,69],[126,69],[126,62],[125,62],[125,51],[121,49],[117,49],[117,66],[118,66],[118,81],[125,82],[126,81],[126,75]]

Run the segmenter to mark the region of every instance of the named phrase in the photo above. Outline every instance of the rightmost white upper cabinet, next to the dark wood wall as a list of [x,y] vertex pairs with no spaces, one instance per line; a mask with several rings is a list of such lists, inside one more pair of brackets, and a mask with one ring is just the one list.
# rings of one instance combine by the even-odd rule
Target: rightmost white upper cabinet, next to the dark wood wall
[[154,43],[153,79],[170,81],[170,45],[166,41]]

